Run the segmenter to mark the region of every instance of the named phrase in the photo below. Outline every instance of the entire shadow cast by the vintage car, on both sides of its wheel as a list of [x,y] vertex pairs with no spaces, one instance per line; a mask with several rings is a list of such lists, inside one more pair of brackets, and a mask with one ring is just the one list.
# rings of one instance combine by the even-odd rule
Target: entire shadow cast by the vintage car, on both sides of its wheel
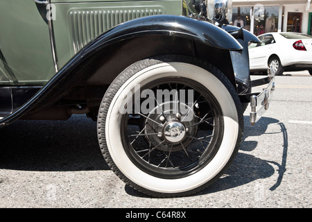
[[[248,184],[275,173],[272,164],[279,170],[275,185],[277,189],[286,171],[288,135],[284,123],[277,119],[262,117],[255,126],[248,124],[245,117],[245,133],[241,151],[225,175],[213,185],[196,195],[210,194]],[[246,152],[257,148],[256,141],[245,138],[266,134],[267,126],[278,124],[284,150],[281,163],[261,160]],[[95,171],[110,170],[107,166],[96,136],[96,123],[91,119],[71,117],[67,121],[26,121],[19,120],[0,129],[0,169],[22,171]],[[125,185],[125,191],[132,196],[149,197]]]

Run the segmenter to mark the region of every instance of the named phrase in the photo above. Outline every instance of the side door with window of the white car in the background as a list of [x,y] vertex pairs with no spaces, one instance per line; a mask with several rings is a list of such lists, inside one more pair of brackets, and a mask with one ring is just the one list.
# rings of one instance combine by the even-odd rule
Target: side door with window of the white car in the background
[[257,45],[250,44],[250,69],[266,70],[268,68],[268,57],[275,44],[275,39],[272,34],[259,36],[261,43]]

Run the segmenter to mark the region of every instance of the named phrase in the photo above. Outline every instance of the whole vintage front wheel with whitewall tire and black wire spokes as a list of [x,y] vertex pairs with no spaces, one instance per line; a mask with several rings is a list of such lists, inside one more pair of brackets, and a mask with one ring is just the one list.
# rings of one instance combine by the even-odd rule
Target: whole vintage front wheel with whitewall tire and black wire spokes
[[[127,95],[138,83],[148,92],[190,89],[197,100],[175,97],[155,103],[156,114],[129,114],[133,101]],[[176,114],[173,107],[187,112]],[[130,126],[132,118],[140,119],[137,125]],[[158,197],[205,189],[232,162],[243,135],[233,85],[207,62],[184,56],[141,60],[125,69],[107,89],[97,124],[98,142],[112,171],[130,187]]]

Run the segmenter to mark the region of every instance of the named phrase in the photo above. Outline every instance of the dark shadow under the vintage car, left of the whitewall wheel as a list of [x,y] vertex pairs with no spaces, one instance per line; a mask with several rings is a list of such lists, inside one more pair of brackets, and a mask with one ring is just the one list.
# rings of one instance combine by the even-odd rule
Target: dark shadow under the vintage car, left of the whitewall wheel
[[88,171],[110,169],[101,154],[96,122],[19,120],[0,129],[0,169]]

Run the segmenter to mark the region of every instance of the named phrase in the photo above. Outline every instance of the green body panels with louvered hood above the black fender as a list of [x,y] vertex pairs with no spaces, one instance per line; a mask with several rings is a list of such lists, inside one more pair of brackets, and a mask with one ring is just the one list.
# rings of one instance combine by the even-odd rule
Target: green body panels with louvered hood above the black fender
[[[108,29],[147,15],[181,15],[182,1],[51,1],[58,67]],[[55,74],[49,28],[33,0],[0,2],[0,85],[44,85]],[[55,15],[53,15],[55,14]],[[43,15],[49,15],[44,11]]]

